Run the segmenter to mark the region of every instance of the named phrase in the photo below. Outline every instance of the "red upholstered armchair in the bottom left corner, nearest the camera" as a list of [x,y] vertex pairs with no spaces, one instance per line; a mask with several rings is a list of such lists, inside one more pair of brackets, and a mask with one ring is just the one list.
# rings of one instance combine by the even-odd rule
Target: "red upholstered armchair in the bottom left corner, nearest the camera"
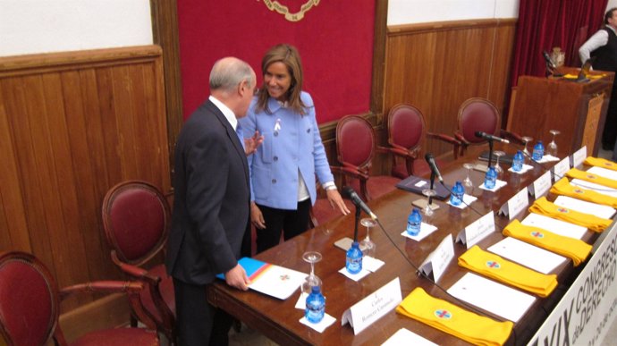
[[[60,325],[60,301],[79,292],[126,294],[139,319],[154,327],[139,303],[141,282],[82,283],[58,291],[52,275],[36,257],[24,252],[0,254],[0,341],[9,346],[56,345],[67,342]],[[72,345],[158,345],[156,331],[145,328],[115,328],[86,333]]]

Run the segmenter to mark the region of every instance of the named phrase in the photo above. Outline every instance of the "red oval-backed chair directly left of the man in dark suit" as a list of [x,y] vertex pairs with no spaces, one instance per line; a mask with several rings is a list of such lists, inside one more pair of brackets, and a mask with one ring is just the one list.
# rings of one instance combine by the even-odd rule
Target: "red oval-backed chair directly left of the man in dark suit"
[[164,264],[146,269],[153,258],[162,259],[159,255],[167,242],[171,212],[165,196],[148,182],[124,181],[107,191],[102,214],[114,264],[131,278],[148,283],[141,303],[158,330],[173,342],[173,280]]

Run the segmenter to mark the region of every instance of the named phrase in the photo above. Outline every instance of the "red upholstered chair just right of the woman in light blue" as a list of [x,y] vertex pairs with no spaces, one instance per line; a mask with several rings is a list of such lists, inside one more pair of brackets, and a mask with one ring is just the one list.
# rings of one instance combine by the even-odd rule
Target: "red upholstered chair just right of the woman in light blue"
[[401,181],[390,175],[369,176],[376,152],[387,152],[377,147],[375,131],[370,122],[357,115],[342,117],[336,125],[336,153],[340,166],[331,167],[333,172],[343,174],[343,185],[358,191],[361,198],[379,198],[396,189]]

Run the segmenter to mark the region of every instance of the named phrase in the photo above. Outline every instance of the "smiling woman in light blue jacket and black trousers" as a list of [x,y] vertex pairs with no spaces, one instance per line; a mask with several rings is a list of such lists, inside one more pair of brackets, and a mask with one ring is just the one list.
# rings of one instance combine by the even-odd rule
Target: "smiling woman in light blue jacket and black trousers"
[[333,208],[350,213],[334,185],[319,135],[313,99],[302,91],[302,64],[294,46],[277,45],[261,62],[262,88],[241,120],[263,144],[249,156],[250,219],[258,252],[308,229],[309,210],[317,198],[315,177]]

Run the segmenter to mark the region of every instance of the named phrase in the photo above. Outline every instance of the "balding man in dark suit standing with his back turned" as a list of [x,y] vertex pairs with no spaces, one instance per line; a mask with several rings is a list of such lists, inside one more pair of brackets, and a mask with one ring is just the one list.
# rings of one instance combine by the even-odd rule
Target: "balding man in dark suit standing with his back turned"
[[180,345],[225,345],[232,319],[207,302],[206,285],[224,273],[248,290],[238,264],[249,241],[249,169],[238,118],[246,115],[256,85],[248,63],[215,63],[210,97],[190,115],[175,148],[172,230],[165,266],[173,276]]

